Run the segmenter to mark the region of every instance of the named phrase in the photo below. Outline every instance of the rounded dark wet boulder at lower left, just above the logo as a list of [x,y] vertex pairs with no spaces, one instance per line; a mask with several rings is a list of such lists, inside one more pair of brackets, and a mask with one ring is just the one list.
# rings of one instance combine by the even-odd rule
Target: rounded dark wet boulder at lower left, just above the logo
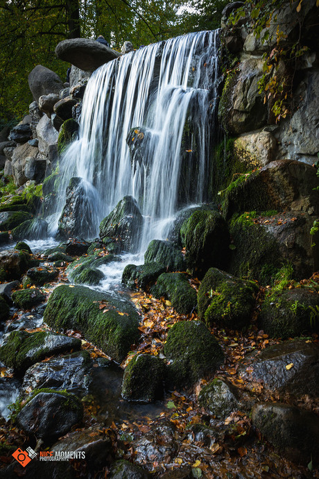
[[74,394],[40,392],[17,415],[18,425],[28,434],[52,443],[83,417],[83,406]]

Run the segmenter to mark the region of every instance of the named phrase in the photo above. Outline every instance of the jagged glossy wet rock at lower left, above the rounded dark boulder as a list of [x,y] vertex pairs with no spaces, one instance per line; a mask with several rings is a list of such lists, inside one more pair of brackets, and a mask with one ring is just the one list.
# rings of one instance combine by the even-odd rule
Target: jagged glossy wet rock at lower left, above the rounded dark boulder
[[49,387],[74,394],[87,392],[92,359],[87,351],[78,351],[46,362],[37,362],[26,370],[21,396],[28,396],[34,389]]

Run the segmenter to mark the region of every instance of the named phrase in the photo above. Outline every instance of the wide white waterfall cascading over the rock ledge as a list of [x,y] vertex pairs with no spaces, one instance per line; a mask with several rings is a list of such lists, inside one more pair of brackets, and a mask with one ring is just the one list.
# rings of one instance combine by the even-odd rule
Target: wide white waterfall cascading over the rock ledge
[[78,140],[60,162],[58,209],[70,178],[80,177],[91,236],[129,194],[146,218],[141,249],[163,237],[178,208],[205,200],[217,88],[218,31],[151,44],[98,68]]

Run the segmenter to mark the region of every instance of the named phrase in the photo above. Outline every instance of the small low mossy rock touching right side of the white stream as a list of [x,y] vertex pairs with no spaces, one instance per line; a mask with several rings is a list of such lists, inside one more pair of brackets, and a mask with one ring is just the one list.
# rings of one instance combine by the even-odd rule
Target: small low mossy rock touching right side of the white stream
[[128,264],[122,274],[122,283],[131,289],[148,289],[164,273],[162,264],[151,262],[145,264]]

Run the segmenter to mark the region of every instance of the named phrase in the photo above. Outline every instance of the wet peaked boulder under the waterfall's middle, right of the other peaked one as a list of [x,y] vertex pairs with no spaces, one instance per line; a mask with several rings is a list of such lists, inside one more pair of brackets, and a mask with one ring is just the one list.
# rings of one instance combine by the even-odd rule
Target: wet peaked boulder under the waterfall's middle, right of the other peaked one
[[101,221],[100,238],[115,237],[123,251],[136,251],[143,221],[137,201],[132,196],[124,196]]

